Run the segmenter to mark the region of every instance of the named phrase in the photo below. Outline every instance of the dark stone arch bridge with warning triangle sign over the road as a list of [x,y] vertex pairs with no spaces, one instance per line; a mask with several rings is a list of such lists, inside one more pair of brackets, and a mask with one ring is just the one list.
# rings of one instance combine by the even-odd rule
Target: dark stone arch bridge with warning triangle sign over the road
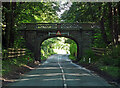
[[34,53],[35,60],[41,61],[41,44],[53,37],[66,37],[77,44],[77,59],[91,48],[95,23],[24,23],[20,25],[20,34],[26,40],[27,47]]

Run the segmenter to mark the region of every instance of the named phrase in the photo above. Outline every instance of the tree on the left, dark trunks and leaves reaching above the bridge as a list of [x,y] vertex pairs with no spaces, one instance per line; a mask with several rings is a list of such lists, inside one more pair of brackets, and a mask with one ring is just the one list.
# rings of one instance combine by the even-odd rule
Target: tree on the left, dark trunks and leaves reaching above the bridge
[[14,47],[18,25],[21,23],[58,22],[59,18],[54,8],[58,8],[54,2],[3,2],[3,47]]

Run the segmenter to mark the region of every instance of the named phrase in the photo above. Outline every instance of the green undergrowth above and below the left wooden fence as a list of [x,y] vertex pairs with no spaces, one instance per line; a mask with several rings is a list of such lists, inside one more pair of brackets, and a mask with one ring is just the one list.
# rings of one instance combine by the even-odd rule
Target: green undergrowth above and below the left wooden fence
[[[25,42],[24,38],[18,35],[16,37],[16,40],[14,41],[13,48],[25,48],[24,42]],[[23,65],[27,65],[28,63],[34,62],[33,53],[27,48],[25,49],[26,49],[25,56],[17,57],[17,58],[10,58],[10,59],[6,59],[2,61],[2,74],[3,75],[6,75],[9,72],[12,72],[12,70],[14,70],[15,67],[20,67]],[[4,53],[7,53],[7,52],[8,51],[6,49],[3,49],[2,54],[4,55]],[[7,58],[7,56],[3,56],[3,57]],[[29,61],[28,61],[28,58],[29,58]]]

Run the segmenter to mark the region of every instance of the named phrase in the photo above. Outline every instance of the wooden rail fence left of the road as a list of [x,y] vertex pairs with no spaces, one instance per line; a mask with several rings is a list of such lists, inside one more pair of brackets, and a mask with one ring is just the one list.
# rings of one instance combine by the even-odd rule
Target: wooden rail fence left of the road
[[26,49],[23,48],[8,48],[7,52],[2,54],[3,60],[10,58],[18,58],[24,56]]

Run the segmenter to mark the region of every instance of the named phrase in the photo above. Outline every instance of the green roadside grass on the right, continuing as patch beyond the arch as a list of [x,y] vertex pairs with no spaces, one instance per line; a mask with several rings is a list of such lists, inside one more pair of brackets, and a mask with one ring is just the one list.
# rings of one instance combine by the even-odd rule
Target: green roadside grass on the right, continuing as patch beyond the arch
[[[72,55],[69,55],[69,58],[73,61],[76,60],[76,57]],[[111,77],[116,79],[119,78],[120,68],[116,63],[118,59],[114,59],[114,62],[113,60],[110,60],[110,59],[106,60],[106,59],[107,59],[106,57],[94,57],[94,58],[91,58],[91,63],[89,63],[89,59],[84,57],[79,61],[79,63],[87,66],[90,66],[90,65],[92,65],[93,67],[97,66],[99,70],[106,72]],[[109,64],[106,65],[106,63],[109,63]],[[112,64],[112,63],[116,63],[116,64]]]

